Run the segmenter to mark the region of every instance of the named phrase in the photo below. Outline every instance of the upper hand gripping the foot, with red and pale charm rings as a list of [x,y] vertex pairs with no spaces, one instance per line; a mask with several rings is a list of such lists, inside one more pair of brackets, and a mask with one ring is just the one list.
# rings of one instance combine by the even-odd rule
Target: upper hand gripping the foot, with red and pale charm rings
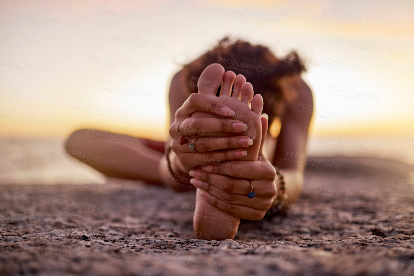
[[[169,130],[172,138],[171,149],[175,153],[172,164],[175,173],[181,171],[188,174],[190,169],[199,165],[229,161],[247,154],[247,151],[240,148],[253,144],[253,140],[248,136],[234,136],[238,132],[246,131],[246,124],[227,118],[191,118],[191,114],[196,111],[222,117],[235,114],[229,107],[205,95],[191,94],[176,111],[175,121]],[[179,142],[181,135],[177,132],[177,127],[180,134],[185,137],[190,135],[200,137],[195,141],[197,152],[188,148],[188,145],[197,137],[188,137],[188,142],[181,145]],[[232,136],[226,136],[223,133],[229,133]]]

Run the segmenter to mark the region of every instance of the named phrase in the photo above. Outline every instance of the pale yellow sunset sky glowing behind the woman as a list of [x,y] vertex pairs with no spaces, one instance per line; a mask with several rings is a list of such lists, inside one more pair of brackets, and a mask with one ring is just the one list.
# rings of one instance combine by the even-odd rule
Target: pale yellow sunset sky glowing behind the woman
[[[61,138],[90,127],[164,140],[173,74],[225,34],[279,57],[298,51],[314,96],[310,133],[413,130],[414,2],[286,2],[1,1],[0,132]],[[116,112],[92,113],[100,107]]]

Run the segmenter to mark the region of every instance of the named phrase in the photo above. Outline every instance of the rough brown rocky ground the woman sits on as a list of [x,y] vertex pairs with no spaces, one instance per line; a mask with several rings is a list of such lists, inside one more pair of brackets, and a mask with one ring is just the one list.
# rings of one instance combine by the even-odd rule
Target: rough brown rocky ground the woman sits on
[[[55,154],[33,160],[36,148],[20,157],[26,168],[37,164],[44,172],[52,161],[67,161],[50,142],[43,152]],[[235,239],[224,241],[194,238],[194,192],[99,175],[91,180],[80,170],[68,184],[41,185],[32,173],[31,185],[23,181],[27,175],[22,185],[12,176],[23,169],[3,165],[0,274],[412,275],[414,187],[407,175],[414,166],[318,158],[340,168],[307,166],[296,204],[261,221],[242,221]]]

